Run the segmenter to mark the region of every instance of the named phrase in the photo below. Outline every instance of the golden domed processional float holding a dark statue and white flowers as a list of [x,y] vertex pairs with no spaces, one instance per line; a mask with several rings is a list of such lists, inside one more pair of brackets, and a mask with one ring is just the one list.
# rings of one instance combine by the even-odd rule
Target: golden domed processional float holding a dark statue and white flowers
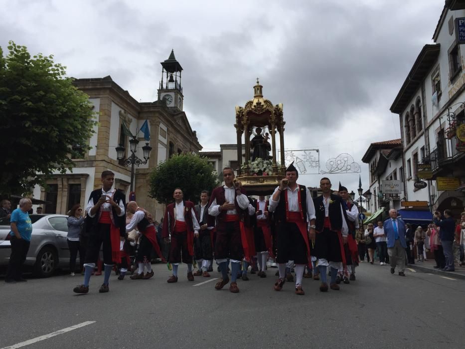
[[[286,166],[284,159],[283,104],[273,106],[263,98],[263,86],[257,78],[254,86],[254,98],[244,107],[236,106],[237,133],[237,179],[249,195],[272,194],[284,178]],[[280,139],[280,161],[277,161],[276,136]],[[242,163],[242,134],[245,140],[244,163]],[[271,144],[270,144],[271,137]],[[271,155],[270,155],[271,152]]]

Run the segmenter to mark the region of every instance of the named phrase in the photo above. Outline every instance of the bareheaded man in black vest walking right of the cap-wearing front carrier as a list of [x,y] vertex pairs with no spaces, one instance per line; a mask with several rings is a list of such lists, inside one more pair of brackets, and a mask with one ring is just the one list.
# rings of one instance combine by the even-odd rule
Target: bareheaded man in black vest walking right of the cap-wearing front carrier
[[320,179],[322,195],[314,199],[316,210],[316,234],[310,232],[315,240],[312,252],[318,258],[318,269],[321,277],[319,290],[326,292],[327,267],[331,267],[331,290],[339,290],[336,284],[337,270],[342,262],[346,267],[344,244],[347,243],[347,215],[342,199],[331,193],[331,181],[327,177]]

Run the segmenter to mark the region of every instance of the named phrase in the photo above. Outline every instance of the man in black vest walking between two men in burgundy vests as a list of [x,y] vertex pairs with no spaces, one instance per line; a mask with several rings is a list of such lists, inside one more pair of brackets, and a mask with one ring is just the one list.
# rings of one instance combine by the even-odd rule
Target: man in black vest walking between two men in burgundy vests
[[208,226],[208,191],[203,190],[200,193],[200,204],[195,205],[195,216],[200,225],[200,231],[197,238],[194,239],[194,254],[197,262],[197,271],[194,276],[210,277],[208,269],[213,263],[212,249],[212,230],[213,226]]

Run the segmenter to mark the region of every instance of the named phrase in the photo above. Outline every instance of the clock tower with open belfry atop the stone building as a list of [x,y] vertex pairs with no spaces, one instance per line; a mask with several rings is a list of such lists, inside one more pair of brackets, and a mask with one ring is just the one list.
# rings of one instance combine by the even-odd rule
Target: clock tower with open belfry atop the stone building
[[182,95],[181,71],[182,67],[174,57],[174,50],[168,59],[161,64],[161,81],[158,88],[158,100],[164,101],[168,108],[182,111],[184,96]]

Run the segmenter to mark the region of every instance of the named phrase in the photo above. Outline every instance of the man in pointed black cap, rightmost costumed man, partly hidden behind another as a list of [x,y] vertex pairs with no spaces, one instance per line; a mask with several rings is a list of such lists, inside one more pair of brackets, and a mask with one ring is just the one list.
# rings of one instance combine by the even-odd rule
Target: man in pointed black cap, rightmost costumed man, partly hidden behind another
[[[343,274],[344,284],[348,284],[349,280],[355,280],[355,266],[358,263],[358,248],[355,242],[355,232],[358,229],[358,208],[349,199],[348,190],[345,186],[339,183],[339,196],[347,207],[345,213],[347,215],[347,226],[349,234],[347,235],[347,244],[344,245],[345,259],[347,265],[347,272],[350,274],[347,279],[347,274]],[[343,270],[345,271],[345,270]]]

